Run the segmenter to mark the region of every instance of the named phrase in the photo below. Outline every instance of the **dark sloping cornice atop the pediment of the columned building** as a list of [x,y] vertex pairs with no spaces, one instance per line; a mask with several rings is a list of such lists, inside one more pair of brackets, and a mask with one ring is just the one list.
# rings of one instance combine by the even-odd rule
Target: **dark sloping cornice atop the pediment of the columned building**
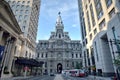
[[0,13],[0,17],[3,21],[5,21],[16,33],[18,34],[22,34],[22,31],[20,29],[20,26],[14,16],[14,13],[12,11],[12,9],[10,8],[9,4],[4,1],[4,0],[0,0],[0,7],[2,7],[7,15],[9,16],[10,20],[13,22],[12,24],[10,23],[10,21],[7,19],[7,17],[4,16],[4,14],[2,14],[2,12]]

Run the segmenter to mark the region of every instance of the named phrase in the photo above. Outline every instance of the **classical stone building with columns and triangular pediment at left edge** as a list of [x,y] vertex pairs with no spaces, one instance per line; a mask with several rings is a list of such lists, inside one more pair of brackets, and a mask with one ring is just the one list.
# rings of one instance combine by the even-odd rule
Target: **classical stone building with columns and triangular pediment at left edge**
[[[0,0],[0,75],[12,76],[12,66],[16,47],[22,42],[22,31],[7,2]],[[21,45],[22,43],[20,43]],[[3,50],[1,50],[3,49]]]

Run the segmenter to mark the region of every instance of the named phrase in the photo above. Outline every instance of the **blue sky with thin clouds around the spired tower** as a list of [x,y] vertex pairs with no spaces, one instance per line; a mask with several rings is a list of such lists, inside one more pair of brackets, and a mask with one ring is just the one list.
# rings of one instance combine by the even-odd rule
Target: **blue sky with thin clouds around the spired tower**
[[69,32],[71,40],[81,40],[77,0],[42,0],[37,32],[38,40],[48,40],[61,12],[64,31]]

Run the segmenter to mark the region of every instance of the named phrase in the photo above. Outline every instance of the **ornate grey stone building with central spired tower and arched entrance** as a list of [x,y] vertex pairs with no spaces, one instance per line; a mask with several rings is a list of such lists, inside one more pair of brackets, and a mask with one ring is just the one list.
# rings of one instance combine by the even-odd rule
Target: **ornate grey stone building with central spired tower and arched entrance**
[[43,73],[61,73],[62,70],[74,69],[82,65],[81,43],[71,40],[60,16],[57,18],[55,32],[49,40],[39,40],[36,48],[37,59],[44,61]]

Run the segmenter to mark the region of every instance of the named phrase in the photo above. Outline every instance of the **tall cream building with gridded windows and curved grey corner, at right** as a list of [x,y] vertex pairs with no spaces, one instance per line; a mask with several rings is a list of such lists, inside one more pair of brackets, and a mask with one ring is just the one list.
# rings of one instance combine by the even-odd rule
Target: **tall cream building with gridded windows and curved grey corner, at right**
[[83,66],[90,74],[95,72],[97,75],[111,76],[116,72],[113,63],[114,56],[118,55],[116,51],[119,51],[119,46],[114,45],[113,42],[114,39],[120,39],[120,34],[118,30],[115,30],[119,27],[115,26],[113,29],[114,26],[111,25],[118,20],[112,19],[119,12],[119,5],[119,0],[78,0]]

